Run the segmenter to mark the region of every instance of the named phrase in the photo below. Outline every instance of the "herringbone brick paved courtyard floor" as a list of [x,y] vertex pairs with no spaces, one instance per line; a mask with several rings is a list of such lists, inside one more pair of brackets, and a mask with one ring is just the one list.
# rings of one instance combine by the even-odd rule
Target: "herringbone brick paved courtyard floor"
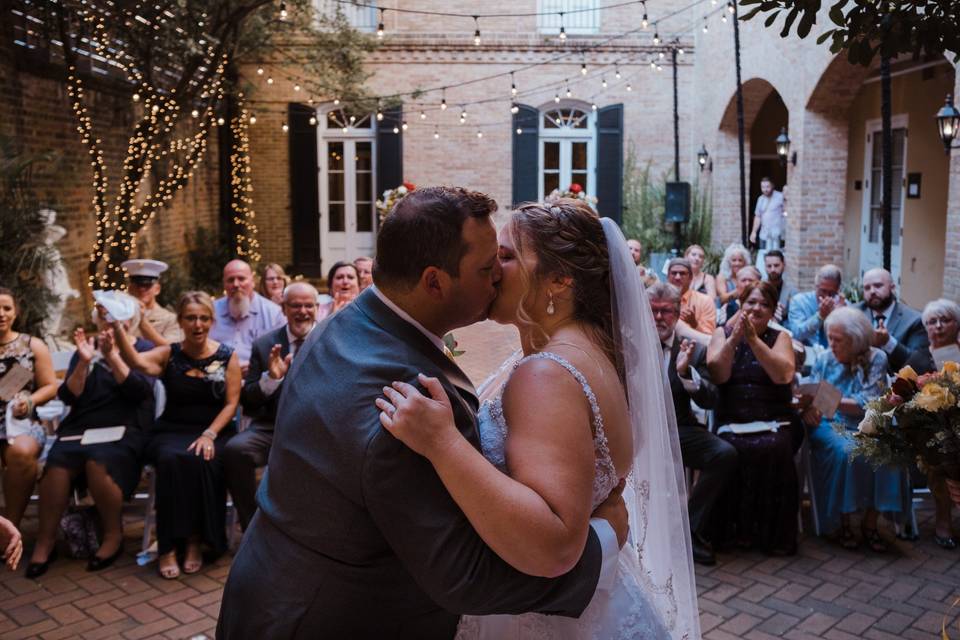
[[[476,381],[514,348],[515,333],[492,324],[457,331],[460,360]],[[918,510],[922,539],[896,541],[876,555],[846,551],[804,537],[792,558],[757,553],[721,556],[697,568],[701,621],[707,640],[932,640],[952,624],[960,639],[960,550],[943,551],[930,539],[932,509]],[[125,513],[127,549],[142,532],[136,506]],[[27,548],[36,530],[34,508],[24,522]],[[38,581],[23,570],[0,572],[0,638],[212,637],[229,558],[176,581],[155,565],[137,566],[128,554],[116,566],[90,574],[79,560],[59,560]]]

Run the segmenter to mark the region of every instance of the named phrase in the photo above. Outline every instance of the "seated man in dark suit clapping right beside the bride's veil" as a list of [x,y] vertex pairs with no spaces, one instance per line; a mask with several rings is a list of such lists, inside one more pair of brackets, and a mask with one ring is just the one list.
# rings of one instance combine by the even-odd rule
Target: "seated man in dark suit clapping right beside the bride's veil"
[[700,472],[687,503],[693,559],[700,564],[713,565],[717,559],[700,529],[707,522],[727,481],[737,470],[737,450],[698,423],[690,408],[692,400],[703,409],[712,409],[718,395],[707,371],[706,347],[693,340],[681,340],[677,335],[680,291],[673,285],[658,283],[647,289],[647,295],[663,346],[663,366],[670,378],[683,465]]

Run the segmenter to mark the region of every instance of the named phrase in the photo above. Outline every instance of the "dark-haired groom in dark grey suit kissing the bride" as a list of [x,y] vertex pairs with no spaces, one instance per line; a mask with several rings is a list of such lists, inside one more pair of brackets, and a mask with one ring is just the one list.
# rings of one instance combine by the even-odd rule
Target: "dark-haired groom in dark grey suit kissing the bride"
[[430,463],[380,426],[383,387],[423,372],[479,448],[476,391],[441,337],[484,319],[497,296],[496,207],[461,188],[406,196],[380,229],[375,286],[311,333],[287,374],[218,638],[452,638],[460,614],[575,617],[612,584],[622,501],[601,507],[569,573],[524,575],[483,543]]

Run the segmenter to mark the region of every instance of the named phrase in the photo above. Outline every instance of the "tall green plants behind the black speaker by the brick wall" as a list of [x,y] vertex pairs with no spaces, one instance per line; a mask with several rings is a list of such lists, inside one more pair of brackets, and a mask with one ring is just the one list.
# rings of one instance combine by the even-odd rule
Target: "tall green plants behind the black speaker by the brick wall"
[[[669,252],[673,248],[673,224],[663,220],[668,174],[655,179],[651,172],[650,161],[641,166],[636,148],[631,144],[624,160],[623,222],[620,226],[626,237],[636,238],[643,244],[648,255]],[[699,244],[706,249],[706,269],[711,262],[719,264],[719,256],[710,249],[713,203],[699,182],[693,183],[690,197],[690,222],[683,228],[684,246]]]

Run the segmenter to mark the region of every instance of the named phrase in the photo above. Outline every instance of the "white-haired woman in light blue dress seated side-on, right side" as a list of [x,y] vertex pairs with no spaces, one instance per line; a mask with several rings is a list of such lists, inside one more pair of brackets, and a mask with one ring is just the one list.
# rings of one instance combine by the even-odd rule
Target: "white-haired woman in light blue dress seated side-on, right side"
[[[858,309],[835,309],[827,316],[824,328],[830,348],[817,357],[813,379],[832,384],[843,398],[833,418],[821,415],[813,406],[803,413],[810,427],[817,515],[822,527],[837,531],[844,548],[855,549],[860,541],[851,529],[850,516],[863,511],[863,539],[870,549],[882,553],[887,545],[877,531],[877,518],[880,512],[903,510],[906,473],[895,467],[874,470],[862,457],[851,458],[850,452],[864,406],[886,388],[887,356],[870,346],[873,327]],[[834,422],[843,425],[843,433],[834,428]]]

